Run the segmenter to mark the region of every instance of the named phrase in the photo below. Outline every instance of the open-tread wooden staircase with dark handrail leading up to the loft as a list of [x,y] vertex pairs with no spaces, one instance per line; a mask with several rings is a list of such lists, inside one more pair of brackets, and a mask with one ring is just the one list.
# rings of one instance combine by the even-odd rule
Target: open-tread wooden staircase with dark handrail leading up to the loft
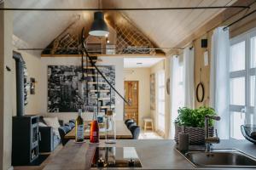
[[82,79],[86,89],[85,111],[96,112],[97,115],[102,112],[106,113],[107,110],[114,111],[115,94],[118,94],[129,105],[125,98],[114,88],[115,73],[114,71],[111,72],[111,66],[98,65],[102,60],[95,56],[90,56],[88,53],[85,45],[84,29],[81,35]]

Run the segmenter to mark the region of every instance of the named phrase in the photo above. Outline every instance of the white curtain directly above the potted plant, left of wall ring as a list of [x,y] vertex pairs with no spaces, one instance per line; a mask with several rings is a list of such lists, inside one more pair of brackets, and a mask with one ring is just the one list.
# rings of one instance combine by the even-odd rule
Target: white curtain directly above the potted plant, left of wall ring
[[183,50],[184,106],[191,109],[195,108],[194,53],[194,48]]

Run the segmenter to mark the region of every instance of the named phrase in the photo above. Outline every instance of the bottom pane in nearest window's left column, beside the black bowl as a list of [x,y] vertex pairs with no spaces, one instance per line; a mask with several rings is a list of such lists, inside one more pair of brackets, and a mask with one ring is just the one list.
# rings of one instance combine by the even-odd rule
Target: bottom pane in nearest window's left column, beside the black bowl
[[241,134],[241,125],[244,124],[245,114],[241,112],[231,112],[230,115],[230,135],[234,139],[244,139]]

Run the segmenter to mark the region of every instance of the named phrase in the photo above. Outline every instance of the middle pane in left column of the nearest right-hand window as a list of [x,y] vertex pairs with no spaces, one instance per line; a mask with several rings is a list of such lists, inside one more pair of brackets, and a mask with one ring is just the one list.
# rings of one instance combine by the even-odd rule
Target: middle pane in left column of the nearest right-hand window
[[230,104],[245,105],[245,77],[230,79]]

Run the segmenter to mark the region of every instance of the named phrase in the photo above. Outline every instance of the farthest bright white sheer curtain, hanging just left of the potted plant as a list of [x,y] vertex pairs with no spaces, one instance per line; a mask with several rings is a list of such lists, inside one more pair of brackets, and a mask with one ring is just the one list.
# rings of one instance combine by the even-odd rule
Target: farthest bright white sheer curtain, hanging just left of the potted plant
[[183,89],[183,57],[176,55],[172,57],[172,67],[170,69],[172,73],[172,109],[171,109],[171,132],[169,134],[170,139],[174,139],[175,126],[174,121],[177,118],[177,110],[184,105],[184,89]]

